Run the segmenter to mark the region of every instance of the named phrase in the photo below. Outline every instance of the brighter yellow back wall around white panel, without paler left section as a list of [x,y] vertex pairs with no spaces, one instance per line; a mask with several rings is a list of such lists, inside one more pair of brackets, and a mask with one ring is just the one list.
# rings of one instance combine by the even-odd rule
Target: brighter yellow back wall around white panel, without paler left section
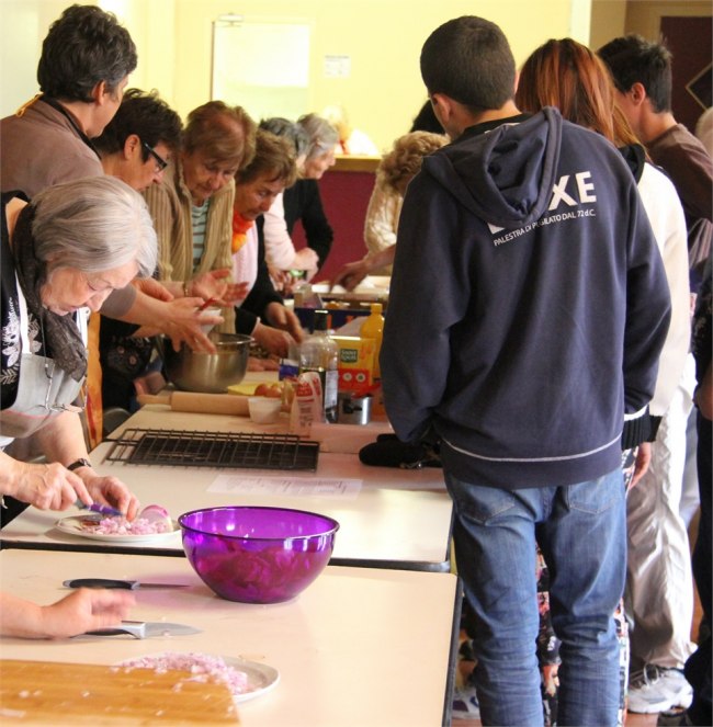
[[[498,23],[518,63],[553,35],[569,33],[570,0],[242,0],[230,7],[246,19],[286,16],[314,22],[312,111],[341,103],[351,124],[386,149],[408,130],[426,100],[418,58],[429,33],[442,22],[473,13]],[[543,13],[543,8],[547,12]],[[205,100],[211,75],[211,22],[226,12],[224,0],[177,0],[174,102],[185,113]],[[351,76],[324,77],[325,55],[351,58]],[[310,111],[306,109],[305,111]],[[250,111],[248,109],[248,111]]]

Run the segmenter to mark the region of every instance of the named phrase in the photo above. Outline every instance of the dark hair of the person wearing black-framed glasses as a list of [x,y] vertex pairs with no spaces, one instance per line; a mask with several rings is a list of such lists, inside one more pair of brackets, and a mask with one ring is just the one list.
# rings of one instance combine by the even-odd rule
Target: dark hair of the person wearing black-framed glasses
[[[158,91],[145,93],[139,89],[128,89],[118,111],[93,143],[102,154],[115,154],[124,148],[132,134],[151,148],[162,141],[171,151],[178,151],[181,146],[181,118],[159,98]],[[144,161],[147,160],[148,151],[144,150]]]

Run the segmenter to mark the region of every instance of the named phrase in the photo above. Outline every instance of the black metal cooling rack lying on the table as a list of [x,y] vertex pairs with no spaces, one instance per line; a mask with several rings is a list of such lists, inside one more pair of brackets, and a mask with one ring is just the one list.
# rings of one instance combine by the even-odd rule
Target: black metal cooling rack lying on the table
[[294,434],[126,429],[105,459],[129,465],[234,467],[245,469],[317,469],[319,442]]

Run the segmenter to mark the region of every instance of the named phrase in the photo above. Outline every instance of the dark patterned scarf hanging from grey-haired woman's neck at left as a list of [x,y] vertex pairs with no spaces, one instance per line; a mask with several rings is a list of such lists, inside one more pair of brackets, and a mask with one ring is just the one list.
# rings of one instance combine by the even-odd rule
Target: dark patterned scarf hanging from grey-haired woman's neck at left
[[47,281],[47,263],[37,259],[32,221],[35,207],[29,204],[22,209],[12,234],[12,251],[18,280],[27,302],[27,310],[39,322],[44,353],[76,382],[87,372],[87,348],[73,316],[58,316],[42,305],[41,291]]

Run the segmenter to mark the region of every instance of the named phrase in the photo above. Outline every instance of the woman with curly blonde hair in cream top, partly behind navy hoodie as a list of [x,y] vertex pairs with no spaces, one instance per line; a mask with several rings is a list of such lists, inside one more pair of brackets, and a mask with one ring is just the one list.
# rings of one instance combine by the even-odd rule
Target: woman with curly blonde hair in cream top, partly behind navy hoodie
[[430,132],[411,132],[394,141],[394,147],[378,164],[366,208],[364,242],[369,252],[361,260],[343,265],[335,275],[335,285],[353,291],[369,274],[391,275],[406,188],[420,170],[423,157],[448,141],[444,134]]

